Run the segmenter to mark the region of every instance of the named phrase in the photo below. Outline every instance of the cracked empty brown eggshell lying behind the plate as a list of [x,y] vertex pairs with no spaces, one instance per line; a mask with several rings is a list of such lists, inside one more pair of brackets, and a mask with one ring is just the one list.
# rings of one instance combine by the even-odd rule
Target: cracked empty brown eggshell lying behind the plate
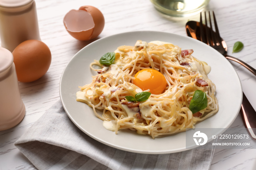
[[101,11],[93,6],[85,5],[79,10],[72,9],[64,19],[68,33],[78,40],[90,40],[101,34],[105,19]]

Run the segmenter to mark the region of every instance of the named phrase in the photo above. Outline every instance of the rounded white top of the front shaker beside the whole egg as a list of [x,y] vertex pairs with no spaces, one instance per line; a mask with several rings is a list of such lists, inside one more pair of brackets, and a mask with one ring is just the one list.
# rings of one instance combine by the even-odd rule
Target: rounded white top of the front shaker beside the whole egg
[[13,55],[11,51],[0,47],[0,73],[11,67],[13,63]]

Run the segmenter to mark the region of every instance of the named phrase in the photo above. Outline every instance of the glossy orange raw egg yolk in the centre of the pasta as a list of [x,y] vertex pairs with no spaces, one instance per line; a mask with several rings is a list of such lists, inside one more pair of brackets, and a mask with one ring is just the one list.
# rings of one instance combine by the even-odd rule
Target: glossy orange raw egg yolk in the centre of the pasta
[[166,88],[166,79],[162,73],[154,69],[143,69],[135,74],[133,84],[152,94],[161,94]]

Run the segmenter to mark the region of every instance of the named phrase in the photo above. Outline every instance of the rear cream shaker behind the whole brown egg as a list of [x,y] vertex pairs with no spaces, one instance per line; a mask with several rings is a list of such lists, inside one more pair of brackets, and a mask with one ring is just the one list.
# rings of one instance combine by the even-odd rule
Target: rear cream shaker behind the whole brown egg
[[11,52],[25,40],[41,40],[34,0],[0,0],[0,37]]

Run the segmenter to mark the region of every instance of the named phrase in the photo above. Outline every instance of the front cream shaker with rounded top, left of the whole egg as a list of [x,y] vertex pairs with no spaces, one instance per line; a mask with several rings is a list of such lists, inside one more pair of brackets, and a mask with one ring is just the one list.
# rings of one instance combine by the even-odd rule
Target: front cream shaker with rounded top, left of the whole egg
[[20,123],[25,116],[11,51],[0,47],[0,131]]

